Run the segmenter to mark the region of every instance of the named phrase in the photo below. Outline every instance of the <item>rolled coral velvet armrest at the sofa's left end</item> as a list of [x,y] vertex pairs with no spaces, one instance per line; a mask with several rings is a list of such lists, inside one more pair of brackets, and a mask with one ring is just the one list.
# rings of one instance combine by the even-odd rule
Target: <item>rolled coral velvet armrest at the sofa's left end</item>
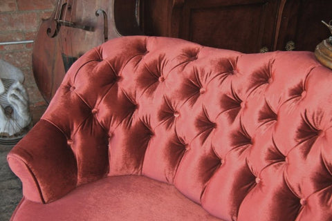
[[28,200],[52,202],[77,184],[77,164],[66,136],[46,120],[41,119],[12,148],[7,160]]

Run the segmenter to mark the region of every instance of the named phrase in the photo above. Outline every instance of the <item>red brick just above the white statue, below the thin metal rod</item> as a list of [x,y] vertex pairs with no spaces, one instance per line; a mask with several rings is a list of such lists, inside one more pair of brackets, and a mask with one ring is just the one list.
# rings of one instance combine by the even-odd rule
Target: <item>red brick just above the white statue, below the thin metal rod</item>
[[20,69],[30,68],[32,65],[31,55],[32,55],[31,50],[24,50],[24,51],[6,53],[3,59]]

